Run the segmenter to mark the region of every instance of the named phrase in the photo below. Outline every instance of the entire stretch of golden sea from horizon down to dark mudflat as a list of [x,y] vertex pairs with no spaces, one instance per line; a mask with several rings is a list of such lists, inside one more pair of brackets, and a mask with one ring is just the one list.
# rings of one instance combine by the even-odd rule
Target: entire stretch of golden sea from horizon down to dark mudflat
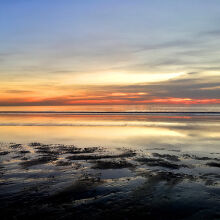
[[219,140],[220,105],[0,107],[1,142],[219,151]]

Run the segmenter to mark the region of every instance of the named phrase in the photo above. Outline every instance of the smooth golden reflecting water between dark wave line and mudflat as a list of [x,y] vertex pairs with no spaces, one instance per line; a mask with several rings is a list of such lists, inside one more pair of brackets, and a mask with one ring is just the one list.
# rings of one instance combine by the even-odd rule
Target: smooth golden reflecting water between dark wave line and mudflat
[[2,142],[220,150],[220,116],[1,114],[0,125]]

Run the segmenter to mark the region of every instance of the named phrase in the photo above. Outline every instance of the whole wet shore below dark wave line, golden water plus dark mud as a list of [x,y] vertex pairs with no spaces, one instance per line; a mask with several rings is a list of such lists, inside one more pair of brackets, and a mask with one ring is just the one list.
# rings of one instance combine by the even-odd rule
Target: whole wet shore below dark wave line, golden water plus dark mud
[[220,219],[220,116],[0,114],[3,219]]

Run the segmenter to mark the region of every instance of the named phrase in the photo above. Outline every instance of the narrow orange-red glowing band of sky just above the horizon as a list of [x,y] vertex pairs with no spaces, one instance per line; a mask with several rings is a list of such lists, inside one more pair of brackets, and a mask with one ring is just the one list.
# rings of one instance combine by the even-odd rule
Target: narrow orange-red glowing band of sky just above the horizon
[[[132,96],[130,93],[116,93],[110,96],[87,96],[87,97],[73,97],[73,96],[60,96],[60,97],[14,97],[0,98],[0,106],[62,106],[62,105],[138,105],[138,104],[220,104],[220,99],[192,99],[192,98],[141,98],[141,94]],[[115,97],[115,98],[114,98]],[[117,98],[116,98],[117,97]]]

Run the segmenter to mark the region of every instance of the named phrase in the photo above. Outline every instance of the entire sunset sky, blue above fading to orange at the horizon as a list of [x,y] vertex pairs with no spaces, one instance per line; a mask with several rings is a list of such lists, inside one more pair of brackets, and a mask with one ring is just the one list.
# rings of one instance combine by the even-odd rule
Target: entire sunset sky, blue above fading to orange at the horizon
[[219,0],[1,0],[0,106],[220,104]]

